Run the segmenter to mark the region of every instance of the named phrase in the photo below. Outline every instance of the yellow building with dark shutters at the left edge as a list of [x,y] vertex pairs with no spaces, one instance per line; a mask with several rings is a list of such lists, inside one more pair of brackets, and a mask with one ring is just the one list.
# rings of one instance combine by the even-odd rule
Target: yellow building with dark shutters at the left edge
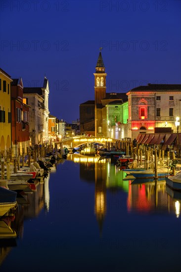
[[11,81],[0,69],[0,154],[5,154],[11,147]]

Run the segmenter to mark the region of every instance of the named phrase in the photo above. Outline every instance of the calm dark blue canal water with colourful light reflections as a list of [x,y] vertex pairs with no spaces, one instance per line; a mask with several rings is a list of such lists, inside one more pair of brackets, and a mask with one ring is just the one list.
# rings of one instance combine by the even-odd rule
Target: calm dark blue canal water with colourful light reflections
[[180,271],[181,194],[125,176],[110,160],[69,155],[18,197],[0,271]]

